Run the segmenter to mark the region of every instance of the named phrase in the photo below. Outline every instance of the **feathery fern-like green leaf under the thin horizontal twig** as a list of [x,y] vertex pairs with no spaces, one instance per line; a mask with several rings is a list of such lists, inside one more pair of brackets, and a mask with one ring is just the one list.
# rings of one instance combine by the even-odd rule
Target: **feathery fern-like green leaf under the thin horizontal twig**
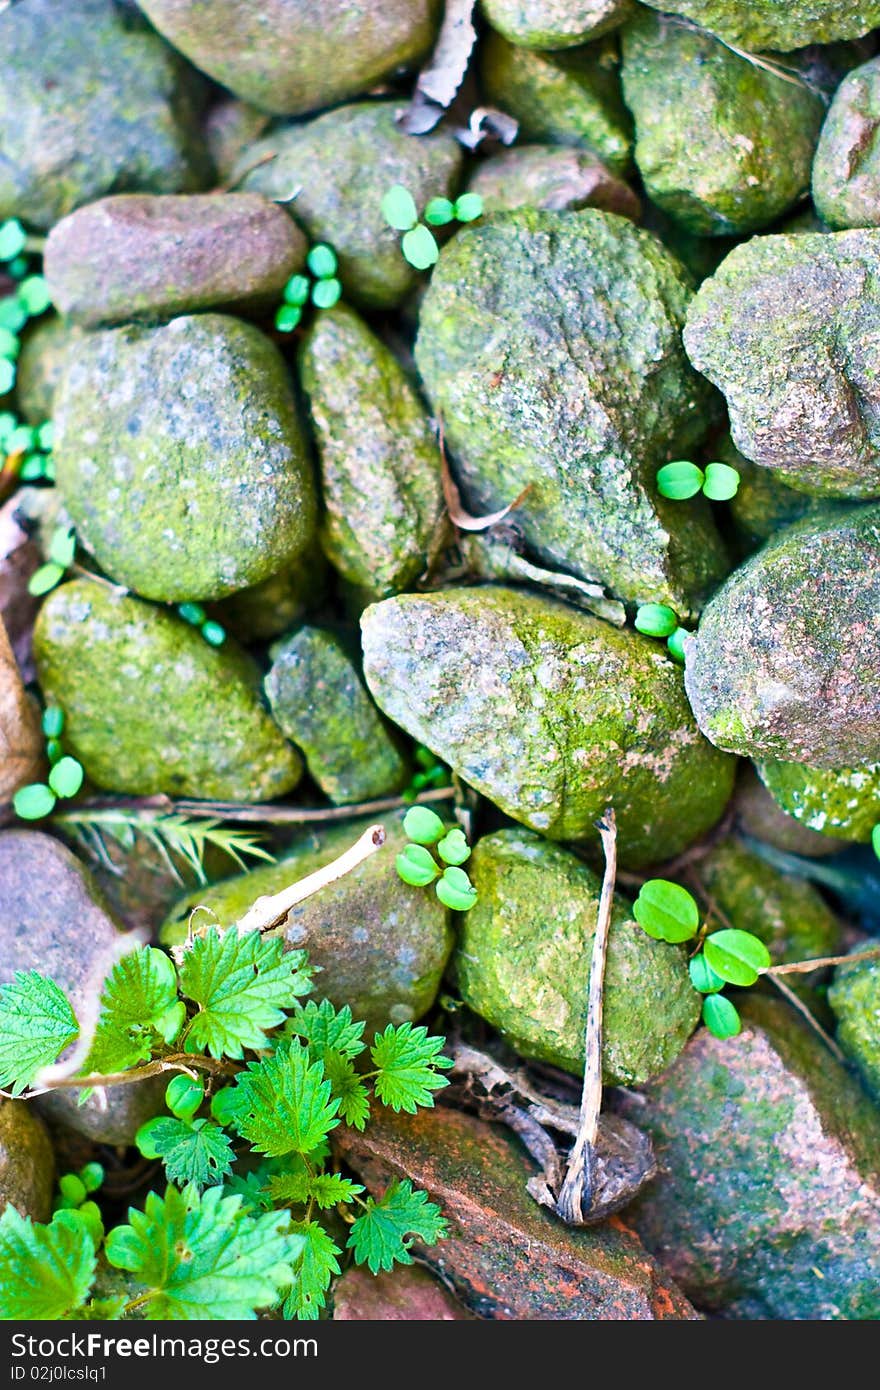
[[185,884],[185,880],[179,860],[192,870],[200,884],[207,883],[204,855],[210,845],[222,849],[239,869],[245,870],[249,867],[246,856],[264,859],[268,863],[275,860],[252,831],[224,826],[221,820],[189,820],[186,816],[157,816],[132,809],[82,808],[61,812],[53,821],[60,828],[68,830],[88,855],[113,873],[122,870],[108,852],[108,841],[128,853],[135,848],[138,837],[153,845],[181,884]]

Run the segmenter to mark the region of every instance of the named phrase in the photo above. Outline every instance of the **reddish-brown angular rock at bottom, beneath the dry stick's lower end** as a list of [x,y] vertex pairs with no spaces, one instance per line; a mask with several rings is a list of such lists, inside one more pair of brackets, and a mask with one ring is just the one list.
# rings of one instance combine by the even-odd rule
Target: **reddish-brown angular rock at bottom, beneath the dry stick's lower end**
[[443,1108],[388,1112],[336,1143],[373,1191],[406,1176],[441,1204],[448,1238],[413,1252],[484,1318],[696,1318],[626,1226],[571,1230],[538,1207],[525,1191],[534,1166],[499,1126]]

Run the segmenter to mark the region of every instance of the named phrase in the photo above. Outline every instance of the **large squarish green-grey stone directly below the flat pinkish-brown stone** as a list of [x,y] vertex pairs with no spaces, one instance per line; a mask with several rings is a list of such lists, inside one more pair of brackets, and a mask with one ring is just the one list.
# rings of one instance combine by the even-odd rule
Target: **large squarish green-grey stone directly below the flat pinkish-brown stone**
[[238,318],[92,334],[68,357],[54,423],[81,539],[145,598],[222,598],[288,567],[314,535],[286,364]]

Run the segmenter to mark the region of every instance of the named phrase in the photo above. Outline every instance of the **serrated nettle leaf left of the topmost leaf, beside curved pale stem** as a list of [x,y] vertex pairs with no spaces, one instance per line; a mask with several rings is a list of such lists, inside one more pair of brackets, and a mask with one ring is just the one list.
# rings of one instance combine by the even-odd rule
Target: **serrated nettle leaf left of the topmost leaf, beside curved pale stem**
[[125,1072],[147,1062],[156,1045],[172,1042],[185,1019],[177,970],[164,951],[139,947],[104,981],[101,1012],[85,1072]]

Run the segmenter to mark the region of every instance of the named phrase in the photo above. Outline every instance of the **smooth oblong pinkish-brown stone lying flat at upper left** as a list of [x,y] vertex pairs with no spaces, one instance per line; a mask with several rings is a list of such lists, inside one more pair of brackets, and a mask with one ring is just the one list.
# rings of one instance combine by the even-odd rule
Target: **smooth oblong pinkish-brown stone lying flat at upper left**
[[204,309],[259,314],[306,250],[285,210],[256,193],[122,193],[57,222],[43,272],[56,309],[86,328]]

